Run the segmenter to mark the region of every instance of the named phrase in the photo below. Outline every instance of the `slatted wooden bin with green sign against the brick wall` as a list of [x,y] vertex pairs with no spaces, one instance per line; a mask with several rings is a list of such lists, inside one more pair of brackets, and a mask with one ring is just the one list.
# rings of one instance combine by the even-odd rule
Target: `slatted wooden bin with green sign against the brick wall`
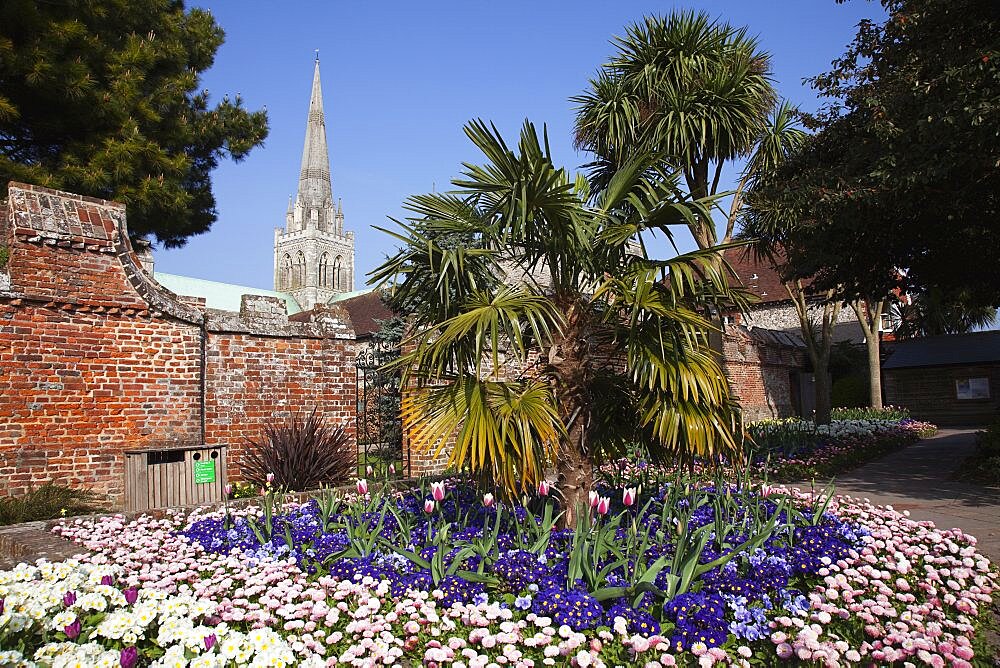
[[199,445],[125,452],[125,509],[222,501],[226,447]]

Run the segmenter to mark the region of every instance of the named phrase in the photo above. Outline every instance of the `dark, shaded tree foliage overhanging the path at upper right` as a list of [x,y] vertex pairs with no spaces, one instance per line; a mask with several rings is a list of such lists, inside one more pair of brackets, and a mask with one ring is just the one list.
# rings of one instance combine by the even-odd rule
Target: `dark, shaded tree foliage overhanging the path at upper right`
[[818,132],[757,189],[746,232],[843,299],[968,288],[968,305],[997,305],[1000,3],[881,4],[889,18],[812,80]]

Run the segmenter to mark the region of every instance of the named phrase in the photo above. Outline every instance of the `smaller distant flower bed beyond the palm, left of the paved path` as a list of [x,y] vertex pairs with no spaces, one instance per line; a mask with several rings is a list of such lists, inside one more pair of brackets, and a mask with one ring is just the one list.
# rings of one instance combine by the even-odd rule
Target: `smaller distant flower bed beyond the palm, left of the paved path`
[[936,431],[934,425],[910,418],[834,420],[819,426],[790,418],[747,427],[755,468],[777,481],[829,478]]

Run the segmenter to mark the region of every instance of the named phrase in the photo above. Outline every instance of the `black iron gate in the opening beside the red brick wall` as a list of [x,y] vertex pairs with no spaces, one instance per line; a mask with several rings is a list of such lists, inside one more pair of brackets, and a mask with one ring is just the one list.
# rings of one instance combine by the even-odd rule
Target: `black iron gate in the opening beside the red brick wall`
[[403,449],[399,373],[384,367],[399,349],[376,341],[362,350],[357,372],[358,462],[376,475],[409,476],[410,453]]

